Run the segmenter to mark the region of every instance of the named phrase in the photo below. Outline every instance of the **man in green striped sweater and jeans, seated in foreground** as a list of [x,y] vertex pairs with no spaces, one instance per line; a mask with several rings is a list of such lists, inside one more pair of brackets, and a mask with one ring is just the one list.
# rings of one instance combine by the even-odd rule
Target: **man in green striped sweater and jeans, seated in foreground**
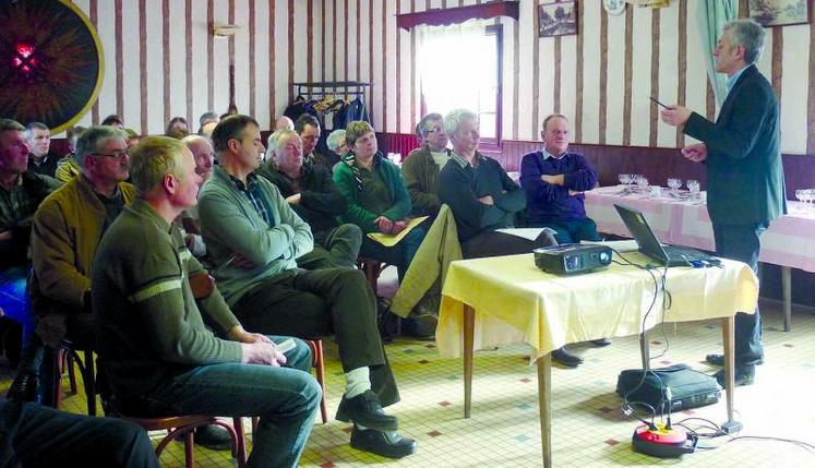
[[286,337],[245,332],[172,227],[199,191],[181,142],[143,139],[130,169],[136,201],[105,232],[92,272],[111,407],[130,417],[260,416],[247,466],[296,466],[321,395],[309,347],[292,338],[284,353]]

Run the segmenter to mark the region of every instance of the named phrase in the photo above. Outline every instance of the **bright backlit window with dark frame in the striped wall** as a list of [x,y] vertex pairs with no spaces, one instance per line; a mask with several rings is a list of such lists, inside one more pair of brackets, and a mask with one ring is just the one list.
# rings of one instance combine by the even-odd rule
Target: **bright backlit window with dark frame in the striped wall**
[[479,116],[481,141],[501,141],[500,25],[469,21],[420,28],[418,55],[422,115],[446,115],[456,108]]

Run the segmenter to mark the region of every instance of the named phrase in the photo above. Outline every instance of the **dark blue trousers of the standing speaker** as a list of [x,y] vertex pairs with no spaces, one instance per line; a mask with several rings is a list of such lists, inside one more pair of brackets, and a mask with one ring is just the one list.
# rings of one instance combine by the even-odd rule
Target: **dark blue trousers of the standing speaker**
[[[744,262],[758,272],[758,252],[762,250],[762,233],[769,223],[746,225],[714,224],[716,254],[724,259]],[[735,314],[735,364],[753,365],[764,357],[762,346],[762,315],[758,308],[754,314]]]

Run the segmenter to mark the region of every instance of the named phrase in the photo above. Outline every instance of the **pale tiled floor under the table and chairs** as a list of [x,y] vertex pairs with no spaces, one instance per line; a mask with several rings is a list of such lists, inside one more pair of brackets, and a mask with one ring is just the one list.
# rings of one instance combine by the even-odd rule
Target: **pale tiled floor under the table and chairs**
[[[815,310],[794,310],[791,333],[780,331],[777,303],[763,304],[766,363],[758,368],[757,382],[735,393],[739,435],[783,437],[815,444]],[[654,365],[684,362],[703,371],[706,352],[721,347],[718,322],[668,325],[650,335],[651,353],[670,343]],[[333,415],[343,392],[336,347],[326,343],[327,398]],[[607,348],[575,346],[586,362],[578,369],[553,369],[553,460],[555,467],[674,466],[683,467],[804,467],[815,465],[815,449],[791,443],[718,437],[704,441],[708,449],[685,455],[681,460],[660,460],[632,451],[631,435],[637,425],[620,411],[614,394],[616,376],[639,363],[637,338],[616,338]],[[351,467],[532,467],[541,465],[540,427],[536,368],[530,367],[523,345],[480,351],[476,355],[472,418],[463,418],[462,361],[441,359],[427,341],[397,340],[387,346],[403,401],[388,411],[399,416],[404,435],[419,441],[416,455],[399,461],[355,451],[348,445],[349,425],[319,422],[301,459],[302,466]],[[10,381],[0,367],[0,389]],[[64,409],[84,412],[82,396],[69,396]],[[716,406],[673,415],[683,418],[724,421],[723,399]],[[167,467],[183,466],[180,444],[163,455]],[[716,447],[715,449],[710,449]],[[233,466],[226,453],[196,449],[202,467]]]

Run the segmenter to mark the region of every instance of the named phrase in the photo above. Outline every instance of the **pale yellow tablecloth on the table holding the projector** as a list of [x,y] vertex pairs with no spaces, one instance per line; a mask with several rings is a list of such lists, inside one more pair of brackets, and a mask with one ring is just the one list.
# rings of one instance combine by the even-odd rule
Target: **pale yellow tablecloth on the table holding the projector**
[[[624,256],[648,263],[638,253]],[[652,271],[657,279],[662,272]],[[666,285],[671,308],[663,317],[662,295],[657,295],[646,328],[663,321],[752,313],[758,299],[756,276],[744,263],[730,260],[722,260],[721,268],[668,268]],[[558,276],[538,269],[532,254],[453,262],[442,290],[439,352],[462,356],[463,303],[476,311],[475,349],[528,343],[537,358],[570,343],[639,333],[654,291],[648,272],[633,266],[612,264],[591,274]]]

